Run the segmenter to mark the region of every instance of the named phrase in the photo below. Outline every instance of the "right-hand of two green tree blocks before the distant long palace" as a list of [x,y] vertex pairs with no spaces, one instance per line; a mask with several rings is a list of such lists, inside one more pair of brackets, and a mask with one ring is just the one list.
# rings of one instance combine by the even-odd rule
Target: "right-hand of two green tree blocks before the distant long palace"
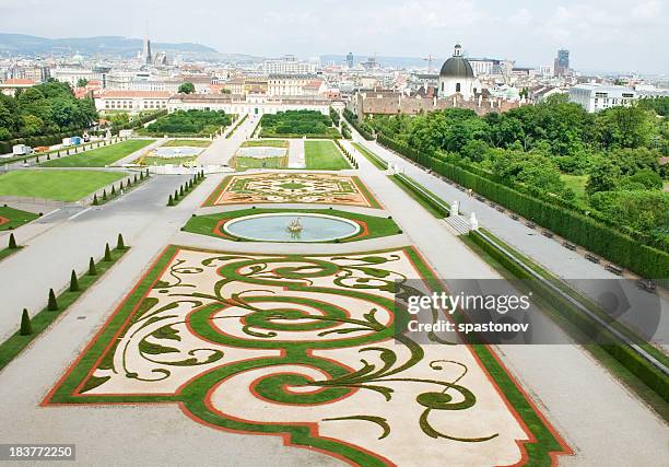
[[340,138],[332,119],[318,110],[286,110],[265,114],[261,138]]

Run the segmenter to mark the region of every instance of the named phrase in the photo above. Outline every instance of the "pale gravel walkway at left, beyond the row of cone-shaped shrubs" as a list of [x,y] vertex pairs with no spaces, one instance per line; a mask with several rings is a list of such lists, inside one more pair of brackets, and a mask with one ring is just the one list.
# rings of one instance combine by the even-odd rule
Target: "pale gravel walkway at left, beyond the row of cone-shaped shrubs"
[[[16,232],[19,243],[25,247],[0,264],[0,339],[16,330],[22,308],[31,314],[40,311],[46,306],[50,288],[63,290],[71,270],[84,272],[89,258],[99,259],[105,243],[114,247],[119,233],[132,246],[144,238],[144,249],[138,249],[149,260],[163,247],[168,234],[181,227],[196,206],[197,191],[176,208],[166,207],[168,195],[188,178],[153,177],[107,205],[78,211],[64,220],[46,218],[30,230],[26,225],[25,231]],[[212,188],[212,182],[197,190],[203,195],[208,186]]]

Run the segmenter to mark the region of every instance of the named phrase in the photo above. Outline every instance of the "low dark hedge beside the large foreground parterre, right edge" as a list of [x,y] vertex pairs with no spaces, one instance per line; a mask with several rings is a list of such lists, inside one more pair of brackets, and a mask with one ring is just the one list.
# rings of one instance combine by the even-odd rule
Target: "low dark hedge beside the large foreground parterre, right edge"
[[[565,297],[553,291],[551,288],[542,283],[540,280],[530,276],[517,262],[504,255],[493,245],[485,241],[478,232],[470,232],[469,237],[485,253],[497,260],[506,270],[518,279],[523,279],[529,285],[532,292],[544,299],[551,306],[558,310],[561,316],[566,317],[580,331],[591,337],[597,341],[598,336],[603,329],[600,325],[591,320],[587,315],[579,313]],[[612,337],[607,339],[612,340]],[[665,400],[669,400],[669,380],[667,380],[656,367],[646,362],[638,353],[632,350],[624,343],[599,345],[606,352],[618,360],[625,369],[632,372],[648,387],[656,392]]]

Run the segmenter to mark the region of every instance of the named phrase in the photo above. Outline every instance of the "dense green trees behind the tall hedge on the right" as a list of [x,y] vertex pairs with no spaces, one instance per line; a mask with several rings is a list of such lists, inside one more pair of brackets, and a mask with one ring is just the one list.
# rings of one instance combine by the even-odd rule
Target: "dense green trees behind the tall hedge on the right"
[[[589,114],[567,102],[566,95],[553,95],[538,105],[484,117],[448,108],[416,116],[373,116],[366,122],[415,150],[566,202],[576,192],[562,175],[586,175],[585,195],[579,196],[586,206],[589,202],[588,209],[612,222],[667,235],[667,215],[649,203],[669,202],[669,194],[661,191],[667,168],[658,162],[669,155],[669,124],[662,116],[668,103],[669,98],[642,100],[632,107]],[[617,209],[629,215],[618,215]]]

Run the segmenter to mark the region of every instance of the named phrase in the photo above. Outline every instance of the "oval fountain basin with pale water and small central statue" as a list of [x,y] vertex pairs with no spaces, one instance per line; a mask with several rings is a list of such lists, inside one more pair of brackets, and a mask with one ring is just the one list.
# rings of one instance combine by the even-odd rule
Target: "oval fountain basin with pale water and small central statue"
[[[287,226],[295,219],[300,219],[302,231],[289,232]],[[277,212],[233,219],[223,225],[223,230],[228,235],[255,242],[314,243],[347,238],[357,234],[361,227],[334,215]]]

